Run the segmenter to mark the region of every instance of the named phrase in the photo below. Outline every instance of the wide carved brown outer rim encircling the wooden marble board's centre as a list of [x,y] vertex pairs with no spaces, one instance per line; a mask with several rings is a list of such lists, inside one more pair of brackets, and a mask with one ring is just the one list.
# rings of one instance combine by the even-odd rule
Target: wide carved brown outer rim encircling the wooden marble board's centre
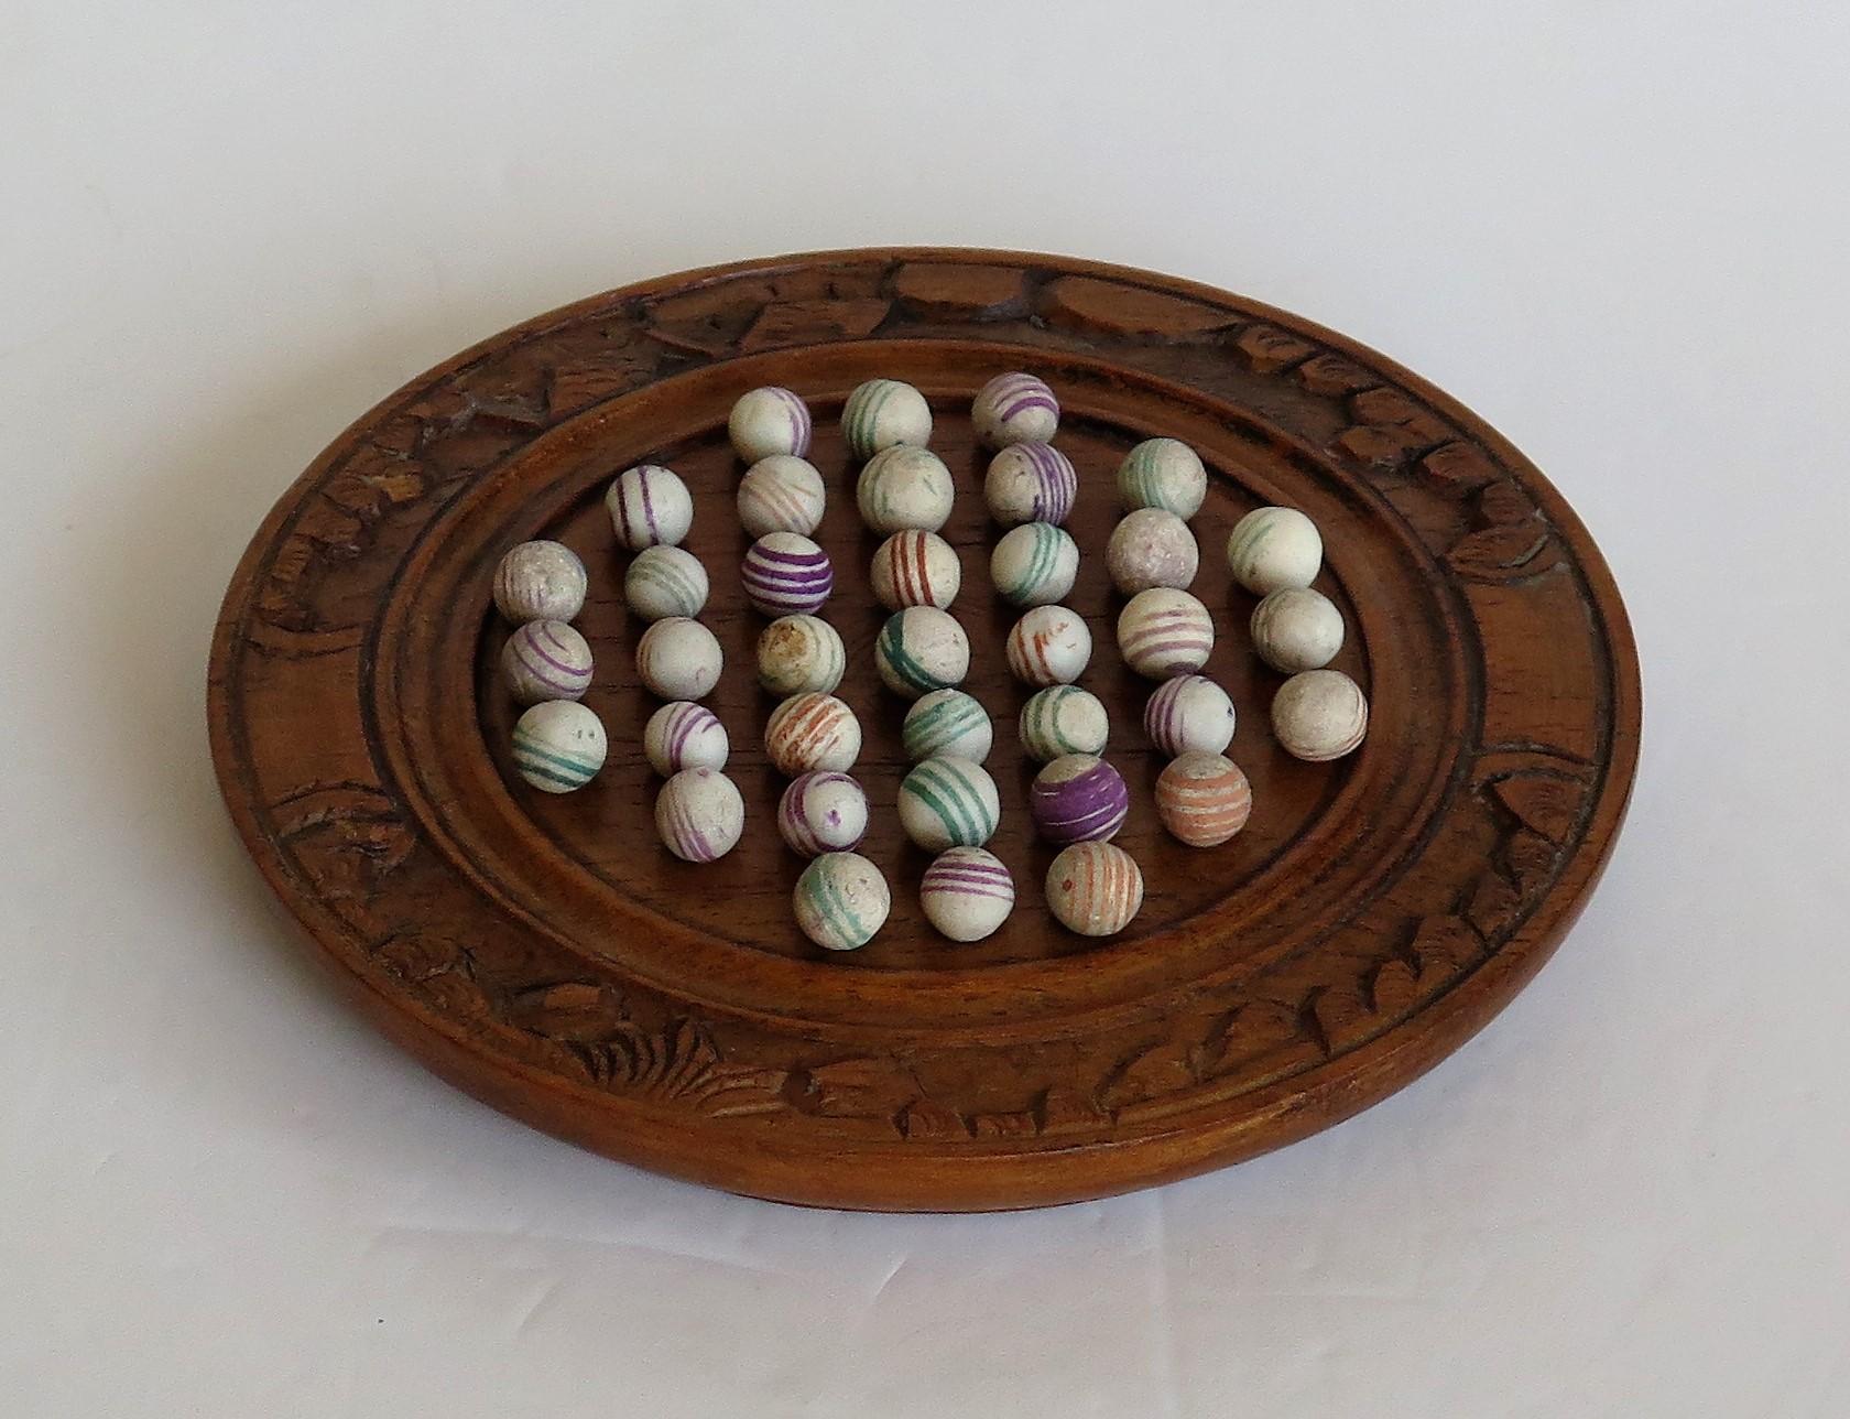
[[[722,316],[684,320],[690,298]],[[1278,960],[1204,962],[1162,999],[1145,993],[1154,977],[1138,951],[1088,960],[1084,981],[1058,962],[992,968],[1032,979],[1058,1008],[953,1012],[903,1038],[866,1010],[818,1016],[725,993],[697,953],[675,975],[660,958],[579,949],[574,921],[590,907],[542,912],[531,882],[496,886],[505,838],[431,807],[501,792],[492,768],[438,764],[422,740],[455,699],[455,648],[483,614],[481,566],[505,546],[487,529],[538,525],[549,501],[607,474],[579,455],[598,426],[672,414],[677,390],[684,405],[688,381],[714,370],[731,379],[775,352],[807,361],[812,387],[845,392],[871,363],[903,368],[908,350],[945,340],[1030,346],[1071,376],[1080,416],[1088,401],[1112,416],[1114,381],[1136,385],[1173,403],[1178,426],[1217,422],[1223,438],[1284,450],[1330,496],[1393,525],[1430,568],[1447,627],[1426,649],[1452,657],[1460,677],[1460,734],[1421,779],[1412,851],[1376,862],[1354,912],[1321,938],[1280,938]],[[1332,562],[1362,574],[1334,551]],[[407,636],[433,607],[448,607],[440,629]],[[1554,679],[1502,653],[1513,636],[1545,638]],[[278,696],[313,705],[326,738],[266,718]],[[209,716],[252,857],[368,1014],[444,1077],[614,1156],[742,1191],[982,1208],[1099,1195],[1276,1147],[1469,1038],[1539,969],[1604,868],[1635,771],[1639,683],[1617,588],[1572,511],[1508,442],[1391,361],[1171,278],[875,250],[596,296],[383,401],[246,551],[215,636]],[[1486,842],[1482,862],[1421,882],[1417,901],[1391,899],[1441,836]],[[583,888],[553,886],[564,901]],[[448,919],[433,901],[475,925],[431,931]],[[820,969],[786,964],[792,979]],[[971,1069],[982,1101],[945,1086]],[[995,1108],[999,1095],[1012,1106]]]

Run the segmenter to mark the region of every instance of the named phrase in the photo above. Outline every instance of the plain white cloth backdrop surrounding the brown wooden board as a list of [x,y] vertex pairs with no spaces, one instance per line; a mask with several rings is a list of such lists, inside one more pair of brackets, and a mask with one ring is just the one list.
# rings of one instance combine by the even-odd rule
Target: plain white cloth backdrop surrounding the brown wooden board
[[[1846,24],[13,0],[0,1410],[1850,1412]],[[204,731],[272,500],[531,313],[871,242],[1301,311],[1584,514],[1645,662],[1630,829],[1423,1082],[1097,1206],[799,1212],[496,1116],[305,962]]]

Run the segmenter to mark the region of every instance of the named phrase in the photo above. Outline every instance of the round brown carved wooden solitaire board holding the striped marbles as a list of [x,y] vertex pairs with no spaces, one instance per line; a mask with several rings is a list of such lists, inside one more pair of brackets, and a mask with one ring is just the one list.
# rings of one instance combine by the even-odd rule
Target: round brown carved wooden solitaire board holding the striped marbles
[[[969,400],[1027,368],[1056,389],[1080,470],[1071,605],[1132,784],[1121,836],[1147,901],[1090,942],[1047,914],[1051,853],[1027,831],[1032,773],[1003,668],[1012,616],[988,583]],[[838,433],[870,376],[932,401],[960,498],[966,688],[997,722],[993,849],[1019,905],[953,945],[918,910],[925,857],[892,810],[903,705],[881,690]],[[816,413],[831,488],[827,614],[866,727],[868,847],[894,914],[829,956],[790,916],[799,864],[771,825],[779,779],[751,673],[762,620],[725,416],[779,383]],[[1154,821],[1147,685],[1114,651],[1103,570],[1112,472],[1151,435],[1212,470],[1195,592],[1234,694],[1245,833],[1206,851]],[[653,701],[601,492],[644,459],[696,494],[688,546],[727,651],[710,697],[733,734],[749,829],[709,868],[651,827],[640,753]],[[1373,697],[1354,757],[1301,764],[1271,738],[1278,677],[1251,651],[1252,599],[1223,546],[1251,507],[1323,527],[1319,586],[1343,607],[1338,664]],[[511,771],[492,666],[501,553],[557,537],[592,592],[586,703],[610,762],[549,797]],[[457,1086],[614,1158],[796,1203],[975,1210],[1062,1203],[1234,1162],[1406,1084],[1541,966],[1613,845],[1637,760],[1624,609],[1572,511],[1510,444],[1339,335],[1184,281],[1060,257],[875,250],[757,261],[596,296],[414,379],[348,429],[257,531],[213,644],[211,734],[231,816],[318,955],[398,1042]]]

